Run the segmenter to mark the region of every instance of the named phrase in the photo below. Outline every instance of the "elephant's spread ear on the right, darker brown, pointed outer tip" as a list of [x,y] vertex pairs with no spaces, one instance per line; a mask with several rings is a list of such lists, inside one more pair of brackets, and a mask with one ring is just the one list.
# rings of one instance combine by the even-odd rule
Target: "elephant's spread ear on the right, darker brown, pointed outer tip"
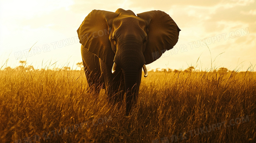
[[147,45],[143,53],[146,64],[160,58],[178,42],[180,28],[173,19],[163,11],[153,10],[137,14],[144,19],[147,26]]

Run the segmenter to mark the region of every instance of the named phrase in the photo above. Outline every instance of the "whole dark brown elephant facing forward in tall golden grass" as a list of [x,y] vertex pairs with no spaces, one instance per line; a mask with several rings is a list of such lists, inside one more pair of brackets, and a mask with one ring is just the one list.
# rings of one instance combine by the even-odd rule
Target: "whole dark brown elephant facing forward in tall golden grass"
[[126,95],[126,116],[139,94],[142,69],[178,42],[180,28],[160,10],[134,14],[92,10],[77,29],[84,71],[90,91],[105,89],[108,101],[121,103]]

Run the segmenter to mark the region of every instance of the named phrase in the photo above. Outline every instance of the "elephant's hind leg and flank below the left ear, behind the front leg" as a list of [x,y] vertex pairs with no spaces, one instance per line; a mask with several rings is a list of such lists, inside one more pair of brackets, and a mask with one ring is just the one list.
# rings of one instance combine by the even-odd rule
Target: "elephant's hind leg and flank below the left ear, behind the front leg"
[[89,92],[98,96],[102,84],[99,58],[83,47],[81,53]]

